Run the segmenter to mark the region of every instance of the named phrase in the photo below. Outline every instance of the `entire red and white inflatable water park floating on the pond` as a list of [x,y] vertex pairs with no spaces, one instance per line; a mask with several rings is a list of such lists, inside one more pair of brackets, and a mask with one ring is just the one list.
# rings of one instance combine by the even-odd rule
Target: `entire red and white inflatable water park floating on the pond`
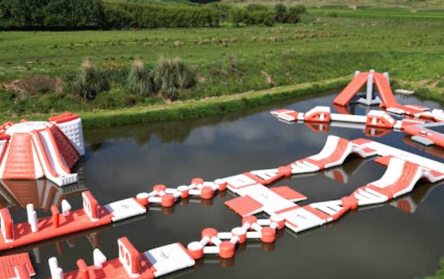
[[[365,85],[366,92],[360,92]],[[407,134],[405,141],[411,146],[444,146],[442,110],[399,104],[387,73],[356,72],[334,100],[337,106],[347,106],[350,102],[378,105],[381,110],[350,115],[332,113],[330,107],[315,107],[305,113],[281,109],[271,114],[289,122],[324,125],[337,121],[397,129]],[[402,118],[394,118],[393,114]],[[84,255],[76,261],[74,270],[64,270],[55,256],[49,258],[51,279],[156,278],[193,267],[205,257],[233,258],[237,247],[243,243],[252,240],[273,243],[279,241],[277,235],[281,230],[299,234],[344,218],[359,207],[391,202],[412,213],[416,210],[415,202],[402,197],[411,193],[419,181],[433,184],[444,179],[444,163],[377,140],[328,135],[318,153],[283,162],[281,166],[249,170],[212,181],[192,178],[178,186],[157,184],[133,197],[102,203],[100,195],[95,196],[93,190],[80,183],[78,173],[71,173],[84,154],[82,121],[78,115],[65,113],[48,121],[22,120],[0,127],[0,182],[4,187],[0,188],[0,194],[8,197],[5,199],[7,206],[0,209],[0,251],[16,251],[42,241],[125,222],[145,215],[153,204],[171,208],[190,197],[206,201],[226,191],[233,198],[225,205],[238,215],[239,222],[225,231],[202,223],[196,228],[200,233],[188,243],[159,243],[159,247],[146,251],[139,251],[133,245],[131,232],[128,232],[128,236],[115,240],[117,258],[108,259],[95,248],[90,252],[91,263],[84,259],[91,258],[90,254]],[[313,197],[289,186],[270,186],[294,175],[317,172],[345,183],[348,175],[340,167],[350,156],[360,162],[354,163],[356,168],[352,176],[363,162],[369,161],[384,166],[385,172],[379,179],[366,181],[346,196],[305,205],[298,203]],[[42,183],[41,178],[50,182]],[[63,191],[65,188],[70,190]],[[73,208],[64,198],[69,193],[80,194],[80,208]],[[39,218],[37,208],[46,208],[50,216]],[[25,211],[27,221],[14,222],[11,210]],[[28,253],[0,256],[0,266],[0,279],[24,279],[36,274]]]

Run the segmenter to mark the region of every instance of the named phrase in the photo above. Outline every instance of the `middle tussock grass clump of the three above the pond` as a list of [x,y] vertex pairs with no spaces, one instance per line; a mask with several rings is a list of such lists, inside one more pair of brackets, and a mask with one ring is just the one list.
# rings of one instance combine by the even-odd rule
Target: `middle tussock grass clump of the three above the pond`
[[128,89],[142,96],[149,96],[156,91],[153,72],[144,67],[140,60],[134,61],[128,74]]

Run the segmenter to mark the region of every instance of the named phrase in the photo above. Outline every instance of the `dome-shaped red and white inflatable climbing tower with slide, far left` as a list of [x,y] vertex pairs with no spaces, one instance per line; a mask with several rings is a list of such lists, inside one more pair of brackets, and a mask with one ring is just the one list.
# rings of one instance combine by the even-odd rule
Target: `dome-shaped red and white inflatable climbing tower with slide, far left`
[[59,186],[75,183],[77,174],[70,169],[84,154],[82,120],[77,115],[0,126],[0,179],[46,177]]

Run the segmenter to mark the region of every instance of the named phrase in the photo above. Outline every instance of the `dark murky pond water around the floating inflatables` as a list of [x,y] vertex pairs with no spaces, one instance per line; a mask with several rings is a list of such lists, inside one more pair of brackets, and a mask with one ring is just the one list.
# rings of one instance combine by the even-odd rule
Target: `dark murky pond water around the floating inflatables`
[[[318,153],[328,134],[354,139],[373,133],[379,136],[372,137],[376,141],[443,160],[443,149],[422,147],[402,132],[334,125],[328,132],[319,132],[319,127],[289,125],[269,113],[282,107],[305,112],[318,105],[331,106],[335,96],[327,92],[207,119],[85,129],[87,148],[76,170],[81,177],[78,184],[61,189],[45,180],[4,181],[0,206],[9,206],[14,222],[23,222],[26,212],[22,205],[40,204],[39,217],[49,216],[49,206],[62,197],[73,208],[80,208],[83,189],[91,190],[105,204],[150,191],[155,184],[176,187],[194,177],[213,181],[248,170],[278,167]],[[401,103],[439,107],[411,96],[397,98]],[[366,110],[360,106],[350,109],[355,114]],[[308,199],[299,204],[338,199],[380,178],[385,167],[373,159],[352,157],[335,170],[342,173],[341,179],[326,170],[293,176],[273,186],[287,185],[306,195]],[[195,267],[164,278],[414,278],[432,274],[444,251],[444,187],[438,186],[421,181],[411,194],[399,198],[408,199],[411,208],[400,209],[396,201],[359,208],[337,222],[305,233],[282,230],[272,244],[248,241],[238,246],[233,259],[206,256]],[[241,218],[224,205],[233,197],[227,191],[211,201],[183,200],[166,209],[150,205],[143,216],[3,254],[29,252],[38,273],[35,278],[47,278],[48,258],[57,256],[64,271],[75,270],[78,258],[92,264],[96,247],[108,259],[116,258],[117,238],[122,236],[139,251],[177,241],[186,246],[198,240],[206,227],[229,231],[240,224]]]

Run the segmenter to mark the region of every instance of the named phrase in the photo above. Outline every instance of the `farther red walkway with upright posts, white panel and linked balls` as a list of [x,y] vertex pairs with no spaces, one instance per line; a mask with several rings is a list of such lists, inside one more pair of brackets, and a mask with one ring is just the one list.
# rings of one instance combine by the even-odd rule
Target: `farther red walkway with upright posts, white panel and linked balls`
[[99,205],[90,191],[82,192],[83,208],[71,211],[66,200],[61,201],[62,213],[55,205],[50,207],[51,216],[37,219],[34,205],[27,204],[28,222],[14,224],[8,208],[0,210],[2,222],[0,251],[29,245],[31,243],[84,231],[97,226],[131,218],[146,213],[150,203],[171,207],[179,198],[189,196],[211,199],[215,191],[223,191],[227,184],[223,181],[204,182],[200,178],[192,180],[191,185],[167,188],[155,185],[150,193],[140,193],[136,198],[127,198],[105,205]]

